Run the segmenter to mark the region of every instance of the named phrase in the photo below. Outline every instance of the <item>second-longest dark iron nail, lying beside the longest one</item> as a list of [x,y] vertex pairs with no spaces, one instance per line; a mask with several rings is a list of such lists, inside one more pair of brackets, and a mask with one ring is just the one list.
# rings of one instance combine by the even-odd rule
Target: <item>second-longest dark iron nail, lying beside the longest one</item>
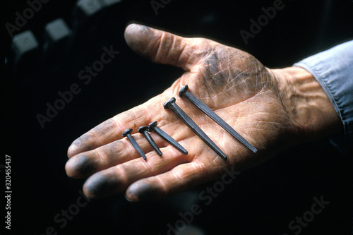
[[196,133],[196,135],[198,135],[198,137],[201,138],[203,142],[205,142],[210,148],[212,148],[213,151],[217,153],[217,155],[222,157],[222,159],[227,160],[227,155],[225,155],[225,153],[222,152],[222,150],[220,150],[220,148],[215,143],[213,143],[213,141],[208,137],[208,135],[206,135],[201,130],[201,128],[175,103],[174,97],[167,100],[167,102],[163,104],[163,107],[164,109],[170,109],[174,112],[174,114],[177,114],[179,119],[181,119],[181,121],[183,121],[186,126],[188,126],[191,131],[193,131],[193,133]]

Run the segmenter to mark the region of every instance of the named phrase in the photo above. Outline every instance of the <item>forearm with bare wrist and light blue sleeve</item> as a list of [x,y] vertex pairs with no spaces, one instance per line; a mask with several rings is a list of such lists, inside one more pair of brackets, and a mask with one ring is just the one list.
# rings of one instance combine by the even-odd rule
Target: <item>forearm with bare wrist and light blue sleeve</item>
[[330,135],[331,142],[346,155],[353,152],[352,64],[353,41],[349,41],[293,67],[273,70],[283,105],[298,133],[309,140]]

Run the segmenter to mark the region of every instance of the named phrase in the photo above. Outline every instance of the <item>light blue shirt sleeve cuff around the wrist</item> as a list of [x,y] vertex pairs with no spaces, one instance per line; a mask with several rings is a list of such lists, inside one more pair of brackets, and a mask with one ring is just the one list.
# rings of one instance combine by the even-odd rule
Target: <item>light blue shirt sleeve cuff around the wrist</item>
[[342,154],[353,155],[353,40],[297,62],[318,80],[343,123],[344,133],[331,143]]

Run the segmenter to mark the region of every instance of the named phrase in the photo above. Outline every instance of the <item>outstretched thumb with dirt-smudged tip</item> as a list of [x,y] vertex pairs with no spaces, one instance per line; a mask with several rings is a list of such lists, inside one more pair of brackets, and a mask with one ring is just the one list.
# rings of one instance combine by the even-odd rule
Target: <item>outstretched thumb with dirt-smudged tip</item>
[[185,71],[189,71],[189,67],[197,62],[190,57],[201,45],[201,39],[180,37],[138,24],[128,25],[124,37],[137,54],[155,63],[177,66]]

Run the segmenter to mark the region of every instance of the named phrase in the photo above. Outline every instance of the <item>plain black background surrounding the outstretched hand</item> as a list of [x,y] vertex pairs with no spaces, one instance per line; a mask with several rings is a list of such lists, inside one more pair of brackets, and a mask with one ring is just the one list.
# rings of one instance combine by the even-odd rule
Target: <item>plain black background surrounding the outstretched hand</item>
[[[3,156],[11,156],[11,232],[39,235],[54,227],[58,234],[167,234],[167,224],[175,226],[181,219],[179,212],[190,211],[198,203],[202,212],[192,225],[204,234],[294,234],[297,229],[289,229],[289,222],[311,210],[313,198],[322,196],[330,204],[300,234],[351,234],[352,156],[340,155],[326,139],[299,145],[241,172],[210,205],[198,195],[213,182],[155,203],[128,203],[124,195],[90,201],[64,228],[54,222],[56,214],[76,203],[84,182],[68,178],[64,171],[71,142],[159,94],[182,73],[131,52],[124,42],[126,25],[135,21],[179,35],[208,37],[250,52],[270,68],[291,66],[353,38],[352,1],[284,0],[285,7],[245,44],[239,31],[249,32],[249,20],[257,20],[263,14],[261,8],[273,3],[172,0],[156,15],[150,1],[121,1],[93,17],[88,23],[93,30],[83,30],[72,44],[58,45],[59,52],[40,48],[15,71],[11,37],[4,27],[3,52],[8,62],[2,77]],[[64,18],[73,28],[75,4],[50,0],[15,34],[32,30],[42,47],[47,23]],[[22,15],[28,4],[11,1],[2,8],[4,25],[14,24],[16,11]],[[100,59],[102,47],[111,45],[120,53],[85,85],[78,79],[79,71]],[[47,102],[53,104],[59,98],[57,92],[73,83],[80,85],[81,92],[42,129],[36,115],[45,115]],[[5,179],[4,169],[1,178]],[[0,231],[8,233],[6,224],[1,224]]]

